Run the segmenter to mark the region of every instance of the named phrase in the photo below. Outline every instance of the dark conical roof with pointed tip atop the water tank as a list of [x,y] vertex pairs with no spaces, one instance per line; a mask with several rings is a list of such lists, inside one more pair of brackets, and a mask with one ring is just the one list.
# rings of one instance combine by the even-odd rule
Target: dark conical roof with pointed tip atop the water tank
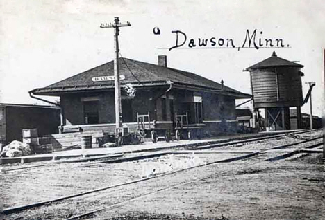
[[278,57],[275,53],[275,51],[273,51],[272,56],[264,59],[263,61],[254,64],[253,66],[249,66],[248,68],[246,68],[247,71],[256,69],[256,68],[268,68],[268,67],[274,67],[274,66],[293,66],[293,67],[299,67],[299,68],[303,68],[303,65],[301,64],[297,64],[295,62],[289,61],[287,59],[283,59],[281,57]]

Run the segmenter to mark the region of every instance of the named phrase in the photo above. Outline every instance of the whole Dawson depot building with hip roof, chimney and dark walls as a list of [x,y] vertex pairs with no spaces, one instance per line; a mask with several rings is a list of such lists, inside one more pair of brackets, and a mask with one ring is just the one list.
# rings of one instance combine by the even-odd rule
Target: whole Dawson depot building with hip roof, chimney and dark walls
[[[251,95],[194,73],[120,57],[122,122],[139,129],[199,129],[204,136],[237,129],[235,99]],[[115,131],[114,62],[108,62],[32,95],[60,97],[62,131]]]

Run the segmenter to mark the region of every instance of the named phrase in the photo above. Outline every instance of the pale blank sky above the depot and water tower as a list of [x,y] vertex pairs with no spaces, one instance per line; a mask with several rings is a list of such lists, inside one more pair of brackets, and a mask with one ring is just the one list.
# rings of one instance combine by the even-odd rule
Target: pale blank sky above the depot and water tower
[[[322,1],[120,1],[120,0],[0,0],[0,102],[44,104],[28,91],[42,88],[109,62],[114,57],[113,29],[101,23],[119,17],[130,27],[120,30],[123,57],[157,64],[167,55],[167,65],[224,80],[251,93],[247,68],[272,55],[299,61],[303,96],[305,82],[316,82],[313,113],[324,109],[325,4]],[[160,35],[153,34],[153,28]],[[242,46],[247,30],[256,39],[283,39],[283,48],[176,48],[176,34],[198,44],[198,38],[233,39]],[[260,34],[263,32],[263,34]],[[179,42],[182,41],[179,36]],[[44,97],[43,97],[44,98]],[[53,100],[53,98],[49,98]],[[238,100],[238,103],[243,100]],[[249,104],[248,104],[249,105]],[[309,113],[309,103],[302,107]]]

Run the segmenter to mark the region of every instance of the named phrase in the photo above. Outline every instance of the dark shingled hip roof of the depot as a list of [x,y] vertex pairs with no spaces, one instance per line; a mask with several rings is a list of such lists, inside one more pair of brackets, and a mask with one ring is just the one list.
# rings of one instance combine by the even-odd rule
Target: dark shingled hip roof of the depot
[[[125,79],[121,80],[121,84],[133,84],[135,86],[160,86],[168,85],[171,81],[177,85],[194,86],[205,90],[219,90],[222,85],[208,80],[200,75],[180,71],[174,68],[167,68],[156,64],[136,61],[133,59],[119,58],[119,74],[124,75]],[[114,62],[108,62],[91,68],[88,71],[79,73],[65,80],[56,82],[49,86],[31,91],[36,95],[58,95],[69,91],[98,91],[102,89],[113,89],[114,81],[99,81],[93,82],[93,77],[113,76]],[[228,86],[224,86],[224,92],[233,94],[240,98],[250,98],[251,95],[241,93]]]

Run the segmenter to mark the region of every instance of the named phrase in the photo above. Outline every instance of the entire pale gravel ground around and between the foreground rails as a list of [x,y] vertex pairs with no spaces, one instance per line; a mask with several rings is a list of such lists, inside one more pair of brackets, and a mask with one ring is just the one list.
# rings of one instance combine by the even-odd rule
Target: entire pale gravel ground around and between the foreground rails
[[[308,138],[320,134],[320,132],[313,132],[308,134]],[[297,141],[301,141],[301,139],[287,137],[216,149],[256,150]],[[262,156],[269,158],[277,154],[281,154],[281,151],[274,151]],[[78,163],[10,172],[0,176],[1,187],[6,189],[1,192],[4,201],[3,208],[55,199],[59,196],[76,194],[146,176],[172,172],[192,165],[242,155],[175,154],[174,156],[167,155],[142,161],[117,164],[101,163],[90,167],[87,166],[87,163]],[[323,189],[320,187],[324,181],[309,180],[322,178],[322,176],[319,177],[319,173],[321,173],[319,166],[322,166],[319,165],[319,160],[317,162],[313,158],[315,156],[305,156],[302,159],[274,163],[260,163],[226,174],[219,173],[240,165],[247,165],[252,161],[260,160],[260,158],[215,164],[154,178],[135,185],[117,187],[97,194],[68,199],[42,208],[12,214],[7,219],[64,219],[92,208],[106,207],[149,192],[163,190],[165,187],[213,174],[217,174],[217,176],[126,203],[122,209],[99,212],[93,218],[294,219],[297,217],[296,219],[319,219],[317,218],[320,210],[317,193],[319,191],[324,193],[324,185]],[[323,191],[319,190],[319,187]],[[292,190],[291,194],[290,189]],[[298,197],[295,197],[296,193]],[[320,199],[322,200],[322,197]],[[318,207],[318,212],[315,207]],[[306,214],[307,211],[310,214]],[[273,212],[277,213],[278,216],[272,215]],[[294,215],[296,212],[297,214]],[[263,218],[262,213],[268,214],[268,216]]]

